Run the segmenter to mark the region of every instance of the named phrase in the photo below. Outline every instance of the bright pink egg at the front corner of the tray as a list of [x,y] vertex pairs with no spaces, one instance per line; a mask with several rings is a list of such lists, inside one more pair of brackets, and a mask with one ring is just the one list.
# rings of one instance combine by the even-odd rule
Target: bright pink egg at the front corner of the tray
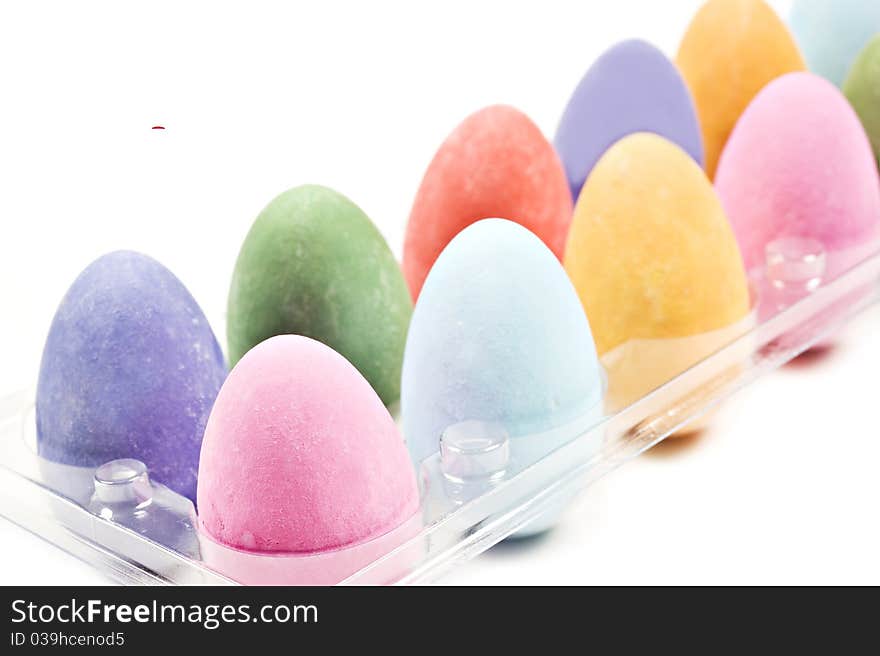
[[414,516],[415,472],[370,384],[306,337],[273,337],[230,372],[205,431],[202,530],[251,553],[354,547]]

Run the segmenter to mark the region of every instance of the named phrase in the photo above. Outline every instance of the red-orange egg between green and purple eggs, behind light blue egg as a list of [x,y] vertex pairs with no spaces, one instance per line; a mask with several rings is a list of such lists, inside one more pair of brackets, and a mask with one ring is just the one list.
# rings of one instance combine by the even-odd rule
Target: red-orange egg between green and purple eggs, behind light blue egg
[[452,238],[494,217],[525,226],[561,259],[571,221],[565,171],[538,127],[503,105],[466,118],[422,179],[403,249],[403,272],[414,299]]

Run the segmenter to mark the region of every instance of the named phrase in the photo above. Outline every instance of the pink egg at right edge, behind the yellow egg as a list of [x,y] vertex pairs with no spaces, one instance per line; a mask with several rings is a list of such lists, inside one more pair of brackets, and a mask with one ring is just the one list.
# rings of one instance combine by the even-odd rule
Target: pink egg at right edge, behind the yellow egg
[[764,87],[724,149],[715,186],[753,273],[792,249],[818,249],[827,280],[876,248],[871,145],[837,87],[816,75],[790,73]]

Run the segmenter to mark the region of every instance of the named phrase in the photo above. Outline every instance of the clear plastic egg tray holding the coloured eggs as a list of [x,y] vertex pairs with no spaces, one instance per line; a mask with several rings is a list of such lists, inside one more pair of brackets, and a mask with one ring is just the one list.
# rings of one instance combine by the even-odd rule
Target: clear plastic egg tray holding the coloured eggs
[[[582,423],[554,429],[543,442],[562,446],[529,462],[511,458],[503,429],[479,422],[451,427],[440,451],[421,463],[421,512],[356,547],[301,556],[231,553],[199,533],[191,502],[151,482],[135,460],[77,468],[38,457],[27,390],[0,399],[0,513],[123,583],[436,580],[671,434],[706,421],[726,397],[833,337],[880,298],[876,245],[863,246],[862,253],[873,254],[859,255],[859,264],[830,281],[822,274],[831,255],[815,242],[780,240],[766,250],[766,266],[752,272],[750,320],[712,339],[672,345],[674,352],[706,353],[696,364],[625,407],[606,406],[587,430]],[[658,345],[629,346],[649,367]]]

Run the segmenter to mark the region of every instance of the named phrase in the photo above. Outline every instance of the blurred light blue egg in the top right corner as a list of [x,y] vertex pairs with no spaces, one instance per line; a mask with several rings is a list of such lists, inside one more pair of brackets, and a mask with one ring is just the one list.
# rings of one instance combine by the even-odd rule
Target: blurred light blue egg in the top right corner
[[840,86],[880,32],[880,0],[795,0],[790,23],[808,68]]

